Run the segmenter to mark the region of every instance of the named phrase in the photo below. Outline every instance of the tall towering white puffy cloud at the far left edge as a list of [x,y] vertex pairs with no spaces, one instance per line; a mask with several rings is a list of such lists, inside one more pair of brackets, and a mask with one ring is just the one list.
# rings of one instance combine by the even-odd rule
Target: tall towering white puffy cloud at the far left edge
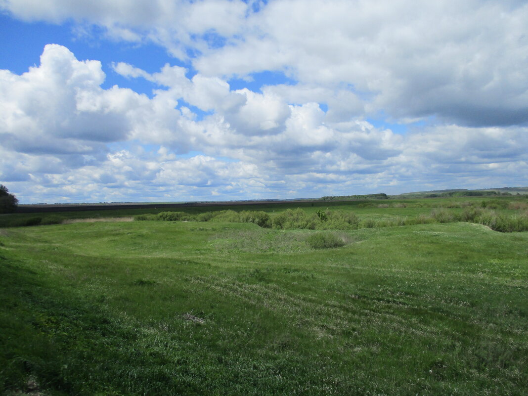
[[60,45],[44,48],[40,67],[22,76],[0,71],[0,139],[19,152],[97,154],[101,143],[126,139],[127,111],[142,97],[99,86],[98,61],[78,61]]

